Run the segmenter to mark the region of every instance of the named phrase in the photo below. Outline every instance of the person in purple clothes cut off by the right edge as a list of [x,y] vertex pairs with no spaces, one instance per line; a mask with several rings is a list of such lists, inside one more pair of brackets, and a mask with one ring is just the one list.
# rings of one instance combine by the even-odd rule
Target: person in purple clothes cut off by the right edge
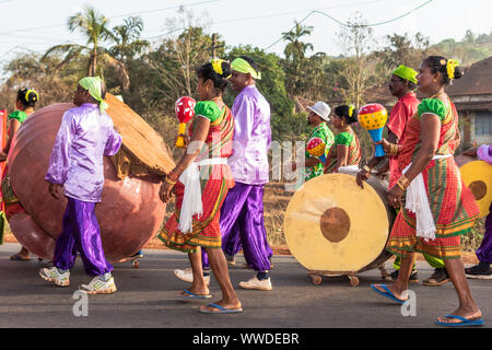
[[[478,156],[479,160],[492,165],[492,145],[482,144],[478,149],[471,149],[464,152],[465,155]],[[465,269],[467,278],[492,280],[492,203],[490,205],[489,214],[485,219],[485,232],[483,233],[482,243],[476,252],[479,264]]]

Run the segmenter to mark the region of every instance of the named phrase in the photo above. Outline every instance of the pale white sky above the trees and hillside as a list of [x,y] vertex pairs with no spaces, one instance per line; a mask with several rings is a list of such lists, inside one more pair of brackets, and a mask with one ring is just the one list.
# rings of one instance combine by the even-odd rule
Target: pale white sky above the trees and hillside
[[[405,14],[429,0],[0,0],[0,66],[12,52],[32,50],[44,52],[62,43],[85,44],[82,36],[70,33],[67,20],[85,4],[91,4],[109,20],[110,27],[121,24],[129,15],[140,15],[144,23],[143,37],[155,43],[169,32],[166,19],[177,15],[185,5],[201,21],[209,23],[208,32],[216,32],[227,45],[253,45],[266,48],[289,32],[294,20],[301,21],[311,11],[323,11],[345,23],[356,11],[370,23],[380,23]],[[461,39],[467,30],[476,34],[491,33],[491,0],[433,0],[421,9],[393,23],[374,26],[379,42],[386,34],[429,36],[431,44],[444,38]],[[321,14],[312,14],[304,25],[313,34],[304,40],[314,51],[338,55],[336,33],[340,25]],[[164,36],[163,36],[164,35]],[[268,51],[282,55],[284,42]],[[376,48],[376,47],[375,47]],[[1,67],[0,67],[1,68]]]

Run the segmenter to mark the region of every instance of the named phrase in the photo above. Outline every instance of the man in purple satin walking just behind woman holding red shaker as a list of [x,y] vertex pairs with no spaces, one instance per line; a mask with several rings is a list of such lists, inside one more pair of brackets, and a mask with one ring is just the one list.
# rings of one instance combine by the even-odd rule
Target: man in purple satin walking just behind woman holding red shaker
[[[270,291],[268,271],[272,250],[263,222],[263,187],[269,179],[271,142],[270,104],[256,88],[255,80],[261,79],[261,73],[251,58],[236,58],[231,67],[232,88],[239,92],[232,106],[234,154],[229,159],[235,186],[221,208],[222,249],[233,258],[243,248],[248,267],[256,271],[251,279],[239,282],[241,288]],[[206,281],[209,281],[210,268],[204,253],[202,264]],[[177,269],[175,275],[184,281],[192,281],[190,270]]]

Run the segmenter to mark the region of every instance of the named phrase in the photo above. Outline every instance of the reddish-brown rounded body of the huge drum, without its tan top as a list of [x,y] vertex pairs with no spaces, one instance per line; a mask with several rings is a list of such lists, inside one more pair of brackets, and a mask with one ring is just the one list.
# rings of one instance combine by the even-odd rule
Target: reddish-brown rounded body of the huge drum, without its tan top
[[[62,115],[73,107],[54,104],[31,115],[17,131],[8,160],[12,188],[26,211],[23,217],[12,217],[12,233],[28,250],[47,259],[52,257],[54,242],[62,230],[67,198],[57,200],[49,195],[45,175]],[[95,212],[106,258],[117,261],[155,236],[165,203],[159,199],[157,175],[137,178],[130,174],[119,179],[105,156],[104,176],[103,197]]]

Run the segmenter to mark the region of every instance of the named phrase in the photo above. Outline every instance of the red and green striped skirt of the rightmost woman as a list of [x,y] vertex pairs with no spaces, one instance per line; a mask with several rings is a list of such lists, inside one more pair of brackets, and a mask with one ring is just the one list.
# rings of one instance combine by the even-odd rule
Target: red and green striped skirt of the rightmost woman
[[479,214],[475,197],[465,186],[454,158],[431,161],[422,176],[436,238],[425,241],[418,237],[415,215],[408,210],[400,210],[386,249],[403,257],[406,252],[417,252],[442,259],[460,258],[460,235],[471,230]]

